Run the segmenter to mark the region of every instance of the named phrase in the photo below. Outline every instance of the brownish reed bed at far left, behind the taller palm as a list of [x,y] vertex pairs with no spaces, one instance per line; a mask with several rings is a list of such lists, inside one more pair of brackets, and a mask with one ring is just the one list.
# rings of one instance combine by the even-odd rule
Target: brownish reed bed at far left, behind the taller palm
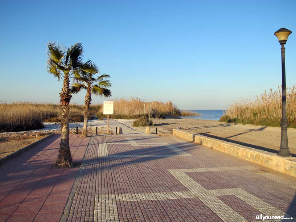
[[[92,106],[94,109],[95,106]],[[70,122],[84,120],[83,105],[70,105]],[[0,102],[0,130],[22,131],[43,128],[42,122],[60,122],[60,105],[33,102]]]

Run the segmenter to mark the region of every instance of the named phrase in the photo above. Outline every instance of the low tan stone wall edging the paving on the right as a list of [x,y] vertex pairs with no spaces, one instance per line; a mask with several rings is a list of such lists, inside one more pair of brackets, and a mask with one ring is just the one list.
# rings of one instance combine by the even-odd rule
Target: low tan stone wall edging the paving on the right
[[257,150],[198,134],[190,134],[183,130],[173,130],[173,135],[296,177],[295,157],[280,157],[264,150]]

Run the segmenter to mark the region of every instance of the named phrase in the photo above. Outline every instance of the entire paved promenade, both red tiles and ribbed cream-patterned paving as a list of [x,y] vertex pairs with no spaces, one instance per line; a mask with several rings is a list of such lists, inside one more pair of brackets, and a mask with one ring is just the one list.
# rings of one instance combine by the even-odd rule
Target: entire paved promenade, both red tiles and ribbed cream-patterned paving
[[83,160],[80,169],[54,167],[58,135],[0,166],[0,221],[296,218],[294,177],[115,120],[110,126],[124,134],[70,135],[73,161]]

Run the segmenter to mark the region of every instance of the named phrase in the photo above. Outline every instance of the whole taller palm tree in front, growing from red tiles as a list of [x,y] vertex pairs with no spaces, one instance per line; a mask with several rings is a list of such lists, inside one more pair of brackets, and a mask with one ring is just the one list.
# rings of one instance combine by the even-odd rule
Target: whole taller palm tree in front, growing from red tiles
[[62,135],[59,155],[55,163],[57,166],[72,166],[69,147],[69,108],[72,96],[69,84],[73,73],[80,70],[83,62],[83,51],[84,48],[80,42],[68,47],[68,49],[56,42],[47,44],[47,72],[55,76],[59,81],[63,79],[63,88],[60,92]]

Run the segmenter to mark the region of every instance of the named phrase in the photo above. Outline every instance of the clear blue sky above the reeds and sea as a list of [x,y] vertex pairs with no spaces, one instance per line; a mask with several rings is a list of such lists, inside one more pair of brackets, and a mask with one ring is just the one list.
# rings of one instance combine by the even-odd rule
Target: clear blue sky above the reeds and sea
[[[281,84],[281,27],[292,31],[286,81],[296,83],[295,9],[294,0],[1,0],[0,101],[59,102],[46,44],[81,41],[84,58],[111,76],[113,97],[226,109]],[[84,93],[71,102],[83,104]]]

